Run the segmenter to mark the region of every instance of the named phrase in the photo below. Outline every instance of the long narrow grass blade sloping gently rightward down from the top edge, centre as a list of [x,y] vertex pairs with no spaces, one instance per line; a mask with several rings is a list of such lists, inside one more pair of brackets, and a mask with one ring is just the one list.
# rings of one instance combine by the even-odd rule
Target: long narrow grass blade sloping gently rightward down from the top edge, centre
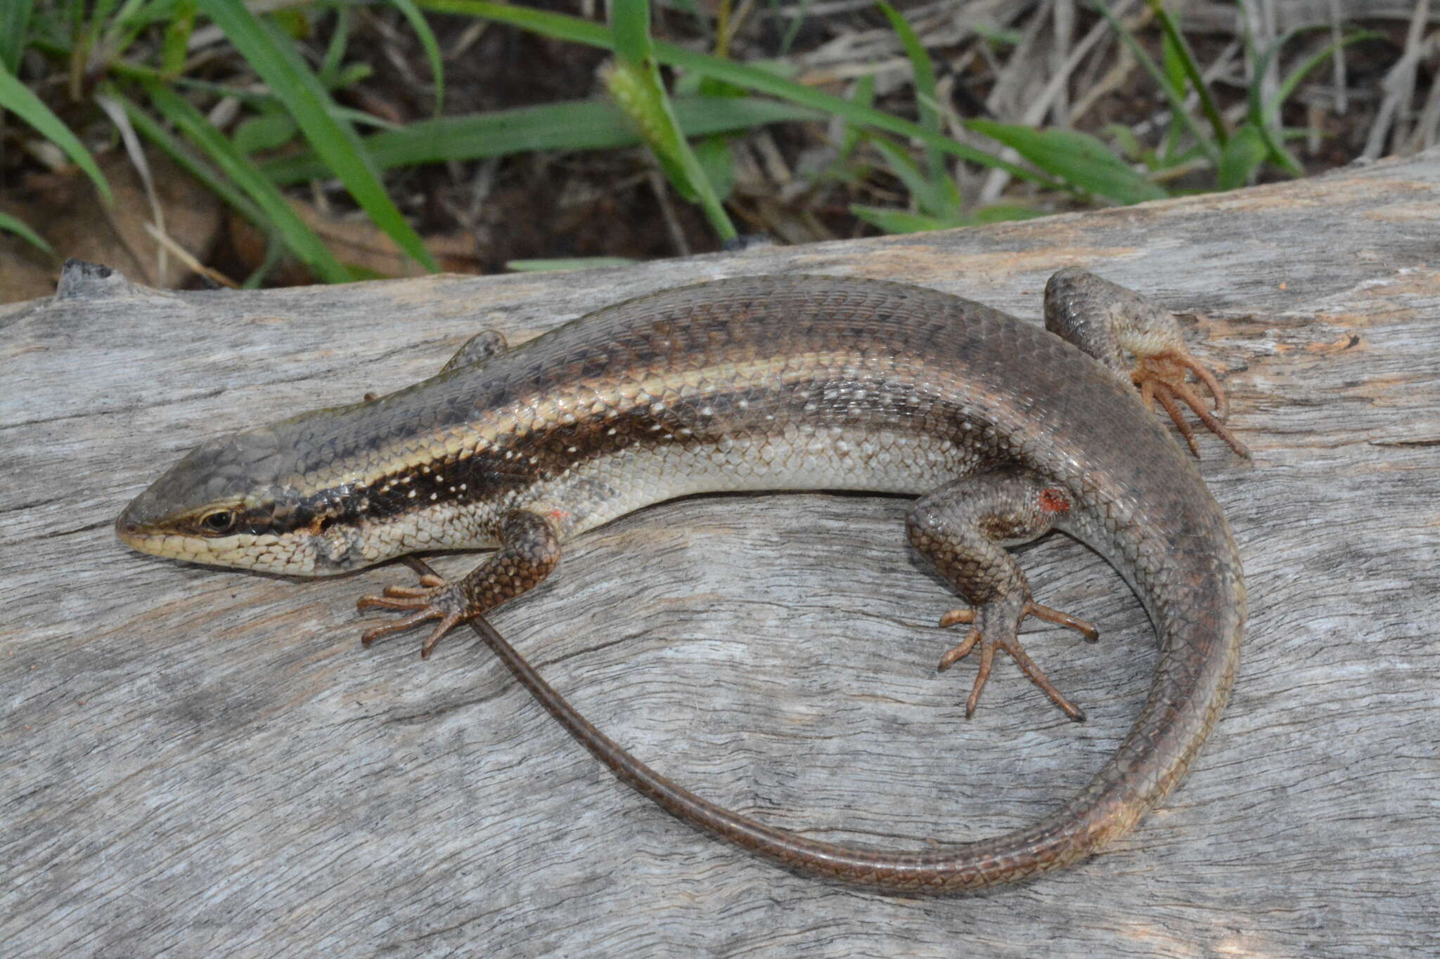
[[[606,50],[613,49],[609,30],[599,24],[580,20],[579,17],[567,17],[559,13],[544,13],[540,10],[507,6],[503,3],[487,3],[485,0],[419,0],[419,6],[425,10],[433,10],[436,13],[459,13],[500,23],[510,23],[557,40],[585,43],[588,46],[598,46]],[[899,116],[891,116],[881,111],[852,104],[847,99],[841,99],[840,96],[822,93],[821,91],[811,89],[801,83],[793,83],[753,66],[732,63],[730,60],[721,60],[704,53],[693,53],[672,43],[655,43],[655,59],[661,63],[678,66],[701,76],[726,81],[729,83],[734,83],[736,86],[743,86],[746,89],[791,101],[792,104],[809,106],[812,109],[840,116],[841,119],[860,127],[874,127],[876,129],[883,129],[900,137],[913,137],[926,145],[933,145],[942,152],[950,154],[952,157],[959,157],[982,167],[1007,170],[1011,175],[1021,180],[1038,183],[1050,188],[1058,188],[1057,183],[1035,173],[1034,170],[1027,170],[1018,164],[1007,162],[999,157],[994,157],[982,150],[975,150],[973,147],[968,147],[962,142],[950,139],[949,137],[940,137],[929,129],[924,129],[919,124],[912,124],[910,121],[900,119]]]

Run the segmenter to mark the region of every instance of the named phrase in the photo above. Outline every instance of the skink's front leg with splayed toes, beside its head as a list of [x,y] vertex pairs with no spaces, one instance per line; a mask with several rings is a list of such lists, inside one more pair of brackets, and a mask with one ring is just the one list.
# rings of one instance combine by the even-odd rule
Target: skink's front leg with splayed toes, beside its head
[[459,582],[422,577],[419,587],[386,587],[382,595],[360,597],[356,604],[360,610],[413,610],[397,623],[373,625],[360,641],[370,646],[382,635],[439,620],[420,646],[420,656],[429,657],[451,628],[534,589],[559,562],[560,538],[554,528],[539,513],[517,509],[500,523],[500,549]]

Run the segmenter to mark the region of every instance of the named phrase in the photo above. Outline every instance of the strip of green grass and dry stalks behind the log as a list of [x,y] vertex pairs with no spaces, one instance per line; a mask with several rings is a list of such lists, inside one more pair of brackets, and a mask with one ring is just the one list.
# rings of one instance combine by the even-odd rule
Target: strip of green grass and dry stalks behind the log
[[684,256],[1436,141],[1430,4],[0,4],[0,300]]

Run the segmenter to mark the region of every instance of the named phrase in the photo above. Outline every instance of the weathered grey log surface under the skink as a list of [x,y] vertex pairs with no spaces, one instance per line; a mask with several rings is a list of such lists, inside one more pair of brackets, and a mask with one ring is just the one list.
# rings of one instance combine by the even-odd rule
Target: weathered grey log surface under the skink
[[[563,276],[168,293],[71,269],[0,312],[0,942],[7,955],[1434,955],[1440,950],[1440,154],[986,229]],[[360,648],[386,566],[287,581],[127,552],[196,443],[700,279],[901,279],[1040,315],[1067,265],[1187,319],[1254,466],[1202,469],[1247,648],[1187,782],[1110,853],[897,899],[791,876],[622,788],[469,637]],[[1079,789],[1155,666],[1119,577],[1051,538],[1030,650],[973,720],[904,502],[668,503],[573,545],[495,625],[661,772],[765,821],[922,847]],[[469,556],[442,556],[442,571]]]

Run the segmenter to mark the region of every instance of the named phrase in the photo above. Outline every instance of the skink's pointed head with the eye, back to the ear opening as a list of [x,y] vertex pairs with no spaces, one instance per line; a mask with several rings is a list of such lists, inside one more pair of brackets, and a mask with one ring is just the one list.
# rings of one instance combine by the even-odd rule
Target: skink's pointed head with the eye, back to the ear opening
[[140,552],[289,575],[337,572],[343,489],[302,490],[288,424],[210,440],[135,497],[115,535]]

